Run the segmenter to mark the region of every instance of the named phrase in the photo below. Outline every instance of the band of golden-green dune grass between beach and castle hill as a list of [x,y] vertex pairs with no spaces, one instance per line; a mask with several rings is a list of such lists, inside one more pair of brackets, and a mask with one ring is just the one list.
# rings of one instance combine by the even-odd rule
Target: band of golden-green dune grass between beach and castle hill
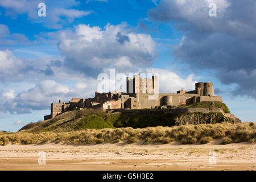
[[67,144],[90,144],[103,142],[135,143],[142,140],[148,143],[170,143],[172,141],[182,144],[208,143],[213,139],[223,139],[223,144],[250,142],[256,138],[256,123],[216,123],[172,127],[146,127],[133,129],[131,127],[118,129],[85,129],[69,132],[0,132],[0,144],[43,144],[47,142]]

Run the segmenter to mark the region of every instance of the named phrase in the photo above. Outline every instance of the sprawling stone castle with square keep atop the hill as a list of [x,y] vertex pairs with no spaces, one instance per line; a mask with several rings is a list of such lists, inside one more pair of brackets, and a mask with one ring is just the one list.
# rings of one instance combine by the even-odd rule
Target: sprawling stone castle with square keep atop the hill
[[112,109],[155,109],[158,106],[190,105],[202,101],[220,101],[221,96],[214,96],[212,82],[198,82],[195,90],[186,92],[181,89],[177,93],[159,93],[158,77],[141,78],[134,75],[126,78],[126,92],[95,93],[93,98],[72,98],[69,102],[51,104],[51,114],[45,115],[44,120],[54,118],[57,114],[68,110],[82,108]]

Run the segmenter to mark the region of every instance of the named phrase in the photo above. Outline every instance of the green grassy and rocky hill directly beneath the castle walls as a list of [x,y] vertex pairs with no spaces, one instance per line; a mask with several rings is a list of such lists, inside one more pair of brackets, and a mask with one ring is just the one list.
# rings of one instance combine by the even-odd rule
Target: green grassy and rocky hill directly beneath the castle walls
[[[208,107],[210,102],[200,102],[200,104],[184,105],[177,107]],[[221,102],[216,102],[215,107],[228,107]],[[101,110],[83,109],[68,111],[57,115],[53,119],[30,123],[24,126],[20,131],[73,131],[83,129],[104,129],[118,127],[155,127],[155,126],[175,126],[190,124],[222,123],[232,122],[222,113],[187,113],[187,114],[123,114],[102,113]]]

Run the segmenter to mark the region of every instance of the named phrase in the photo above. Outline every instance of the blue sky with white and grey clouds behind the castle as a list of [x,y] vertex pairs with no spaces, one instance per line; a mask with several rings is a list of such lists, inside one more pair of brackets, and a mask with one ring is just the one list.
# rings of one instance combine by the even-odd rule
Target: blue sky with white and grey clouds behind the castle
[[93,97],[110,69],[158,73],[159,92],[213,82],[232,114],[255,121],[255,9],[255,0],[0,0],[0,130],[43,120],[59,99]]

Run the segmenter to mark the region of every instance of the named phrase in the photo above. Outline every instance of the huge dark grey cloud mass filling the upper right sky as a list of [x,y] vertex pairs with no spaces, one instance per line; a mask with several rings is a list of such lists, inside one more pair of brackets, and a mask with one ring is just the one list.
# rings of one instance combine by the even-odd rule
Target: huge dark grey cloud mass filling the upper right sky
[[[208,15],[212,2],[217,17]],[[162,0],[148,15],[184,32],[184,39],[172,49],[176,61],[212,69],[222,83],[237,84],[233,94],[256,98],[255,8],[254,0]]]

